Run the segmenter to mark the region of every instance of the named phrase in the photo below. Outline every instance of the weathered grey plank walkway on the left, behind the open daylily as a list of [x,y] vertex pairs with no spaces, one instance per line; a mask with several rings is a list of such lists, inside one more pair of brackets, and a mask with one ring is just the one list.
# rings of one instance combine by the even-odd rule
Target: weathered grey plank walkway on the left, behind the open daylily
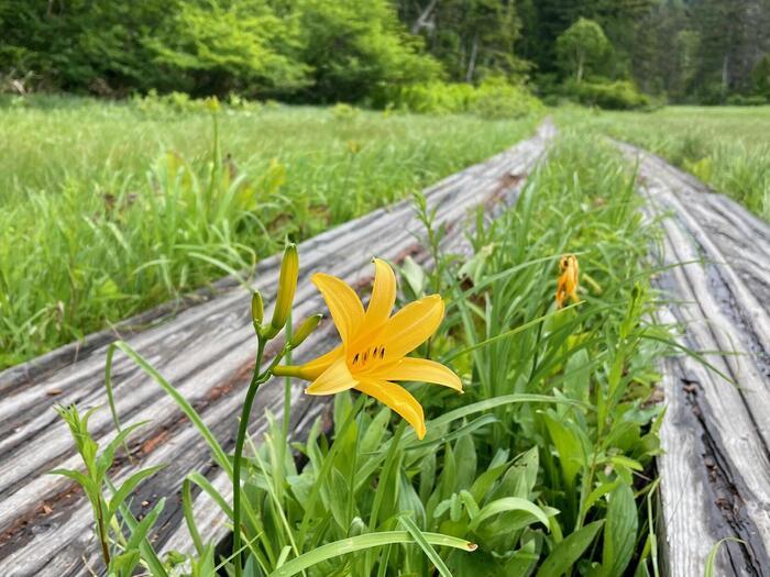
[[[516,199],[553,132],[546,122],[532,138],[426,191],[429,207],[438,209],[438,223],[447,225],[448,243],[457,246],[461,242],[465,215],[472,208],[485,204],[494,210]],[[407,255],[424,259],[422,232],[411,204],[405,201],[301,243],[295,319],[322,310],[308,281],[311,273],[324,270],[353,286],[369,285],[373,255],[395,263]],[[277,256],[263,260],[252,281],[266,302],[274,297],[278,264]],[[255,342],[249,290],[232,279],[216,288],[219,290],[197,293],[179,310],[178,303],[161,307],[86,343],[0,373],[0,576],[80,576],[89,575],[88,567],[99,573],[91,512],[84,495],[67,479],[47,474],[55,467],[80,467],[66,425],[52,407],[105,406],[91,418],[91,431],[100,443],[114,436],[103,381],[107,345],[118,336],[176,386],[224,450],[232,450]],[[333,328],[327,323],[301,351],[327,348],[332,340]],[[136,465],[167,465],[135,493],[136,511],[142,510],[140,503],[151,507],[160,498],[168,498],[153,539],[161,551],[189,551],[191,541],[177,507],[184,476],[191,470],[202,473],[226,499],[231,493],[229,479],[213,465],[206,444],[173,400],[121,353],[116,355],[113,381],[122,422],[150,421],[130,443]],[[280,413],[282,397],[283,387],[267,384],[261,389],[252,434],[264,429],[260,415],[265,409]],[[323,400],[297,389],[293,430],[301,434],[322,409]],[[118,459],[113,475],[120,481],[132,470],[128,459]],[[197,495],[194,509],[205,540],[226,534],[222,515],[208,498]]]

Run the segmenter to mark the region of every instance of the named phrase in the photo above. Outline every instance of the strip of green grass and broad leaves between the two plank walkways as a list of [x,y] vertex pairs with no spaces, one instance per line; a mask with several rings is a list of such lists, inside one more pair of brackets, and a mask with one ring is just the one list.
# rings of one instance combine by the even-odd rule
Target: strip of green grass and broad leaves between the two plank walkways
[[[491,221],[479,214],[470,259],[437,253],[432,271],[406,264],[403,290],[438,287],[449,300],[421,353],[451,364],[465,395],[410,387],[428,418],[419,441],[403,421],[391,426],[388,409],[339,393],[333,432],[319,420],[293,445],[305,463],[283,450],[286,429],[268,415],[264,439],[248,440],[242,474],[244,574],[657,573],[652,459],[662,410],[649,399],[668,333],[647,320],[656,228],[640,202],[608,145],[568,134],[516,208]],[[583,300],[556,310],[565,252],[580,259]],[[188,491],[193,482],[232,518],[195,471]],[[189,497],[183,502],[195,528]],[[193,566],[212,566],[213,544],[195,541]]]

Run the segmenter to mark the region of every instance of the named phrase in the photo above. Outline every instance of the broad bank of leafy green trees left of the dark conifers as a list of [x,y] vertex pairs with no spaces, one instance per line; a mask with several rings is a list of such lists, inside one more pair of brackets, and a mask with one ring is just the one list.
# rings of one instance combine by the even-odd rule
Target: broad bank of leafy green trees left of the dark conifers
[[0,0],[0,38],[25,90],[352,102],[441,74],[388,0]]

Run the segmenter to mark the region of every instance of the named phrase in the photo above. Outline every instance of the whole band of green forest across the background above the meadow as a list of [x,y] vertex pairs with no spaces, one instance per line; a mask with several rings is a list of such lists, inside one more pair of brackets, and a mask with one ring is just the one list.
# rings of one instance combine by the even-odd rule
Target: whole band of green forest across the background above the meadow
[[0,89],[408,108],[503,80],[548,103],[761,104],[768,30],[770,0],[0,0]]

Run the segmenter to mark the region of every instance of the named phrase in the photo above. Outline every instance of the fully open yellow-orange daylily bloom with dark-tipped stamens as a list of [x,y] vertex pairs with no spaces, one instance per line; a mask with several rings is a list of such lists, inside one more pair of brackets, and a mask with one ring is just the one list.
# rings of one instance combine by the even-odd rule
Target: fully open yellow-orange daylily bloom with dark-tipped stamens
[[462,392],[460,378],[435,360],[406,356],[432,335],[443,319],[443,300],[431,295],[410,302],[396,314],[396,275],[374,259],[372,298],[364,311],[355,291],[343,280],[318,273],[312,282],[323,296],[342,344],[301,366],[278,366],[275,375],[312,381],[308,395],[333,395],[358,389],[400,414],[422,439],[422,407],[394,380],[443,385]]

